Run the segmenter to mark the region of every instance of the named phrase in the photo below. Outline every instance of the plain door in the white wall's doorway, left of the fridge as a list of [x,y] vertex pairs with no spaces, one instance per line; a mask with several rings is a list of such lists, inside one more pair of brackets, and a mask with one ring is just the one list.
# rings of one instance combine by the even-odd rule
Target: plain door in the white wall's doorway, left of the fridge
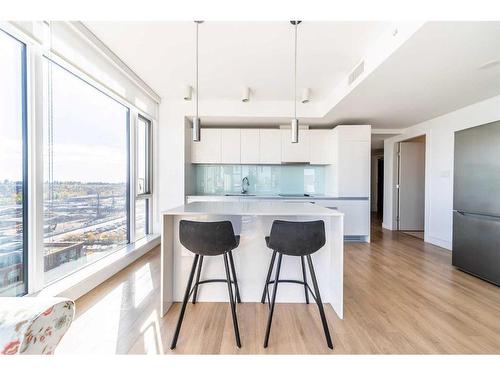
[[423,231],[425,143],[399,144],[399,230]]

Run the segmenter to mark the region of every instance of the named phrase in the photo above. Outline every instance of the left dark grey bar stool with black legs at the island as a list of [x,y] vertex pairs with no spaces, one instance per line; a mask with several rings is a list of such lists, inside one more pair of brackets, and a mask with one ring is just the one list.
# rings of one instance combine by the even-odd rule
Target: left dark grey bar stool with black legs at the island
[[[233,316],[233,328],[234,328],[234,335],[236,337],[236,345],[238,346],[238,348],[241,348],[240,331],[238,329],[238,319],[236,317],[236,303],[233,297],[232,284],[234,284],[235,287],[235,293],[238,303],[241,302],[241,299],[238,288],[238,280],[236,278],[236,271],[234,268],[233,255],[231,253],[232,250],[236,249],[239,246],[240,236],[234,235],[233,225],[231,224],[230,221],[197,222],[197,221],[181,220],[179,223],[179,239],[181,244],[186,249],[193,252],[195,256],[193,260],[193,265],[191,266],[191,272],[189,274],[186,291],[184,293],[184,300],[182,301],[179,320],[177,321],[177,327],[175,328],[175,334],[172,339],[170,349],[175,349],[175,346],[177,345],[177,339],[179,338],[182,320],[184,319],[184,313],[186,311],[186,305],[189,301],[189,297],[191,297],[191,294],[193,294],[193,304],[196,303],[198,286],[201,284],[207,284],[213,282],[227,283],[227,288],[229,292],[229,303],[231,305],[231,313]],[[205,256],[217,256],[217,255],[222,255],[224,259],[226,278],[208,279],[200,281],[203,258]],[[196,265],[198,265],[198,272],[196,275],[195,284],[194,286],[192,286],[194,274],[196,271]],[[231,267],[231,271],[229,270],[229,267]],[[231,280],[231,273],[232,273],[232,280]]]

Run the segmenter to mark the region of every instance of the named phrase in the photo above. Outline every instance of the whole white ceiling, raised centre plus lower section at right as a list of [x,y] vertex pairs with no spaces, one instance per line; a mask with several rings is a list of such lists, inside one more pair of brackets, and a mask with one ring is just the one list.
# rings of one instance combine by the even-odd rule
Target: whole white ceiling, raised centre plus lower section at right
[[[194,85],[193,22],[86,22],[164,99],[180,100]],[[303,22],[298,86],[312,105],[326,99],[391,24]],[[392,29],[391,29],[392,30]],[[293,98],[293,29],[281,22],[206,22],[200,26],[200,99]],[[429,22],[313,125],[372,124],[402,129],[500,95],[500,22]],[[309,107],[312,108],[312,107]],[[205,124],[276,125],[287,118],[227,117]]]

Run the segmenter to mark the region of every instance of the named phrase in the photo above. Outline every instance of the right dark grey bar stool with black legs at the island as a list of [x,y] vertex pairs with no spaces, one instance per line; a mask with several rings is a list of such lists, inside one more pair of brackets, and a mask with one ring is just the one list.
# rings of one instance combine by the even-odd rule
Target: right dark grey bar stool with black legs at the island
[[[323,309],[323,302],[319,293],[318,281],[316,280],[316,273],[311,258],[311,254],[315,253],[325,245],[325,223],[323,220],[308,221],[308,222],[293,222],[275,220],[271,227],[270,236],[266,237],[267,247],[273,250],[269,270],[267,272],[266,284],[262,292],[261,302],[265,303],[267,295],[269,303],[269,315],[267,319],[266,337],[264,339],[264,348],[267,348],[269,343],[269,334],[271,332],[271,323],[273,321],[274,303],[276,301],[276,292],[279,283],[295,283],[304,285],[304,293],[306,303],[309,303],[308,291],[311,293],[313,299],[318,305],[321,323],[325,332],[326,343],[330,349],[333,349],[332,338],[328,329],[328,322]],[[271,274],[274,267],[274,262],[278,254],[278,264],[276,266],[274,281],[271,280]],[[302,281],[299,280],[280,280],[281,260],[283,255],[295,256],[301,258],[302,263]],[[306,268],[304,258],[307,258],[309,265],[309,273],[313,283],[314,292],[309,287],[306,278]],[[269,284],[274,284],[272,297],[269,298]]]

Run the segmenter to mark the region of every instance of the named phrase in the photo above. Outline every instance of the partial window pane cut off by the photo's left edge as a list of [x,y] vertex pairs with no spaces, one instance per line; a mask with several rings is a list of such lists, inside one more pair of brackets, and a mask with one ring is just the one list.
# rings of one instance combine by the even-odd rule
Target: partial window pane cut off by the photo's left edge
[[26,46],[0,30],[0,297],[26,294]]

